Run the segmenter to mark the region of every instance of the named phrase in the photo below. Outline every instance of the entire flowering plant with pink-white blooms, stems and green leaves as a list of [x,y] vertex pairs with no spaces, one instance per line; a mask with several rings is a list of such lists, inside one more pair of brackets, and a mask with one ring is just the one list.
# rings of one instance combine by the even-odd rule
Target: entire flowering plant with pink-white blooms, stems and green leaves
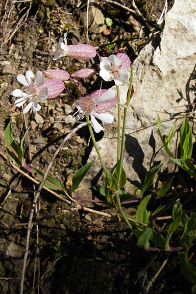
[[[185,117],[180,128],[180,148],[181,157],[175,158],[171,151],[172,138],[175,132],[175,123],[172,125],[168,136],[162,136],[161,121],[158,117],[158,132],[163,146],[168,153],[169,158],[166,162],[154,166],[146,174],[145,182],[143,183],[140,197],[131,195],[124,190],[126,184],[126,173],[123,170],[123,154],[125,142],[125,127],[126,127],[126,114],[129,107],[131,97],[133,96],[133,65],[129,57],[119,50],[116,54],[110,56],[100,56],[96,49],[87,44],[67,45],[67,34],[65,33],[64,39],[60,38],[57,44],[57,50],[54,53],[53,60],[59,58],[74,58],[74,59],[90,59],[97,58],[99,63],[97,68],[80,69],[75,73],[70,74],[61,69],[49,69],[37,71],[34,75],[31,71],[27,71],[25,75],[17,75],[17,80],[23,85],[22,89],[15,89],[12,95],[16,97],[14,104],[17,107],[23,107],[22,112],[26,115],[28,111],[33,111],[35,114],[41,111],[41,106],[49,99],[61,99],[64,103],[73,105],[73,117],[75,121],[85,119],[89,128],[89,132],[96,149],[100,165],[105,173],[105,183],[98,189],[98,192],[105,197],[106,201],[117,209],[120,218],[125,221],[128,228],[137,238],[137,245],[145,248],[146,250],[162,250],[162,251],[178,251],[181,259],[181,270],[185,277],[196,284],[196,268],[189,260],[189,250],[196,241],[196,213],[186,214],[183,211],[180,199],[177,196],[166,205],[160,205],[154,213],[147,210],[147,205],[151,195],[144,196],[147,189],[153,185],[155,175],[170,160],[173,164],[180,166],[185,170],[189,176],[196,179],[196,165],[192,162],[192,132],[187,118]],[[99,75],[104,81],[114,81],[116,90],[111,89],[97,89],[96,91],[83,95],[80,80],[90,78],[93,75]],[[119,87],[129,82],[129,87],[126,96],[125,104],[122,103],[120,97]],[[78,88],[79,97],[73,98],[72,89]],[[65,99],[65,93],[70,95],[71,98]],[[66,96],[67,97],[67,96]],[[110,114],[112,107],[117,105],[117,151],[116,151],[116,164],[113,170],[108,170],[105,162],[99,152],[95,133],[103,131],[102,123],[113,123],[114,117]],[[123,112],[123,128],[121,129],[121,112]],[[102,123],[100,123],[102,122]],[[28,129],[27,131],[28,132]],[[26,135],[26,134],[25,134]],[[4,141],[5,146],[12,161],[15,165],[23,167],[27,172],[31,173],[39,181],[42,180],[44,174],[37,169],[28,166],[25,162],[23,142],[18,144],[12,137],[12,127],[9,123],[6,127],[4,135],[0,133],[1,139]],[[93,162],[87,163],[81,167],[73,176],[72,188],[68,191],[63,185],[52,178],[47,176],[45,186],[50,190],[55,191],[59,196],[77,199],[75,190],[86,175],[86,173],[93,166]],[[92,167],[93,168],[93,167]],[[164,196],[172,185],[171,181],[167,184],[161,185],[158,190],[156,189],[157,198]],[[85,200],[85,198],[83,198]],[[122,204],[138,203],[135,217],[127,215]],[[172,221],[167,229],[162,229],[157,225],[157,217],[164,214],[172,207]],[[172,235],[176,235],[178,231],[177,241],[171,242]],[[180,237],[179,237],[180,234]],[[175,244],[175,245],[173,245]]]

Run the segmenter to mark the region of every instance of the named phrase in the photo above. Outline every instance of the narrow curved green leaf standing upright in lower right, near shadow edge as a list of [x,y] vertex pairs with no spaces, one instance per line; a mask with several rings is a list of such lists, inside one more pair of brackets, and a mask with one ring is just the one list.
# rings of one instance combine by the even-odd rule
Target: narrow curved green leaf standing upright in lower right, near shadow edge
[[172,237],[172,233],[176,230],[178,227],[182,217],[182,205],[179,201],[176,201],[176,203],[173,205],[173,210],[172,210],[172,223],[170,224],[168,228],[168,234],[166,237],[166,245],[165,245],[165,250],[170,251],[170,239]]

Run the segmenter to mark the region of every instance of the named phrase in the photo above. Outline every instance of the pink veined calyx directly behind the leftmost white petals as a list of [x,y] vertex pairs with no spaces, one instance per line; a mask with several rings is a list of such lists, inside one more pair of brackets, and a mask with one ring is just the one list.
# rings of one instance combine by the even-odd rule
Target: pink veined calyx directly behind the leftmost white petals
[[49,79],[39,87],[39,90],[42,90],[45,87],[48,88],[47,99],[53,99],[57,98],[63,92],[65,84],[59,79]]

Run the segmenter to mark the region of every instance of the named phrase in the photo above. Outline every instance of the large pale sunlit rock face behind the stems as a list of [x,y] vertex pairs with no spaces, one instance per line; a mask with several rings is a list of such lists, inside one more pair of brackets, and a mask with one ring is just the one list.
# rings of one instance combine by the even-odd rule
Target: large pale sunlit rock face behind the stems
[[[141,187],[145,173],[153,163],[167,158],[166,152],[159,150],[162,143],[157,134],[157,113],[163,121],[163,133],[167,134],[173,116],[177,117],[180,112],[195,107],[186,105],[196,98],[191,90],[196,79],[196,0],[175,0],[166,15],[163,30],[154,34],[140,52],[133,70],[134,96],[127,116],[123,163],[129,178],[129,191],[135,189],[132,184]],[[128,84],[121,87],[122,102],[125,101],[127,89]],[[111,112],[117,118],[117,110]],[[184,113],[181,118],[183,116]],[[179,119],[178,125],[181,122]],[[100,153],[108,168],[116,163],[117,135],[114,126],[116,127],[115,123],[113,127],[105,125],[104,136],[98,141]],[[92,159],[96,159],[94,169],[98,172],[98,159],[94,149],[90,156]]]

